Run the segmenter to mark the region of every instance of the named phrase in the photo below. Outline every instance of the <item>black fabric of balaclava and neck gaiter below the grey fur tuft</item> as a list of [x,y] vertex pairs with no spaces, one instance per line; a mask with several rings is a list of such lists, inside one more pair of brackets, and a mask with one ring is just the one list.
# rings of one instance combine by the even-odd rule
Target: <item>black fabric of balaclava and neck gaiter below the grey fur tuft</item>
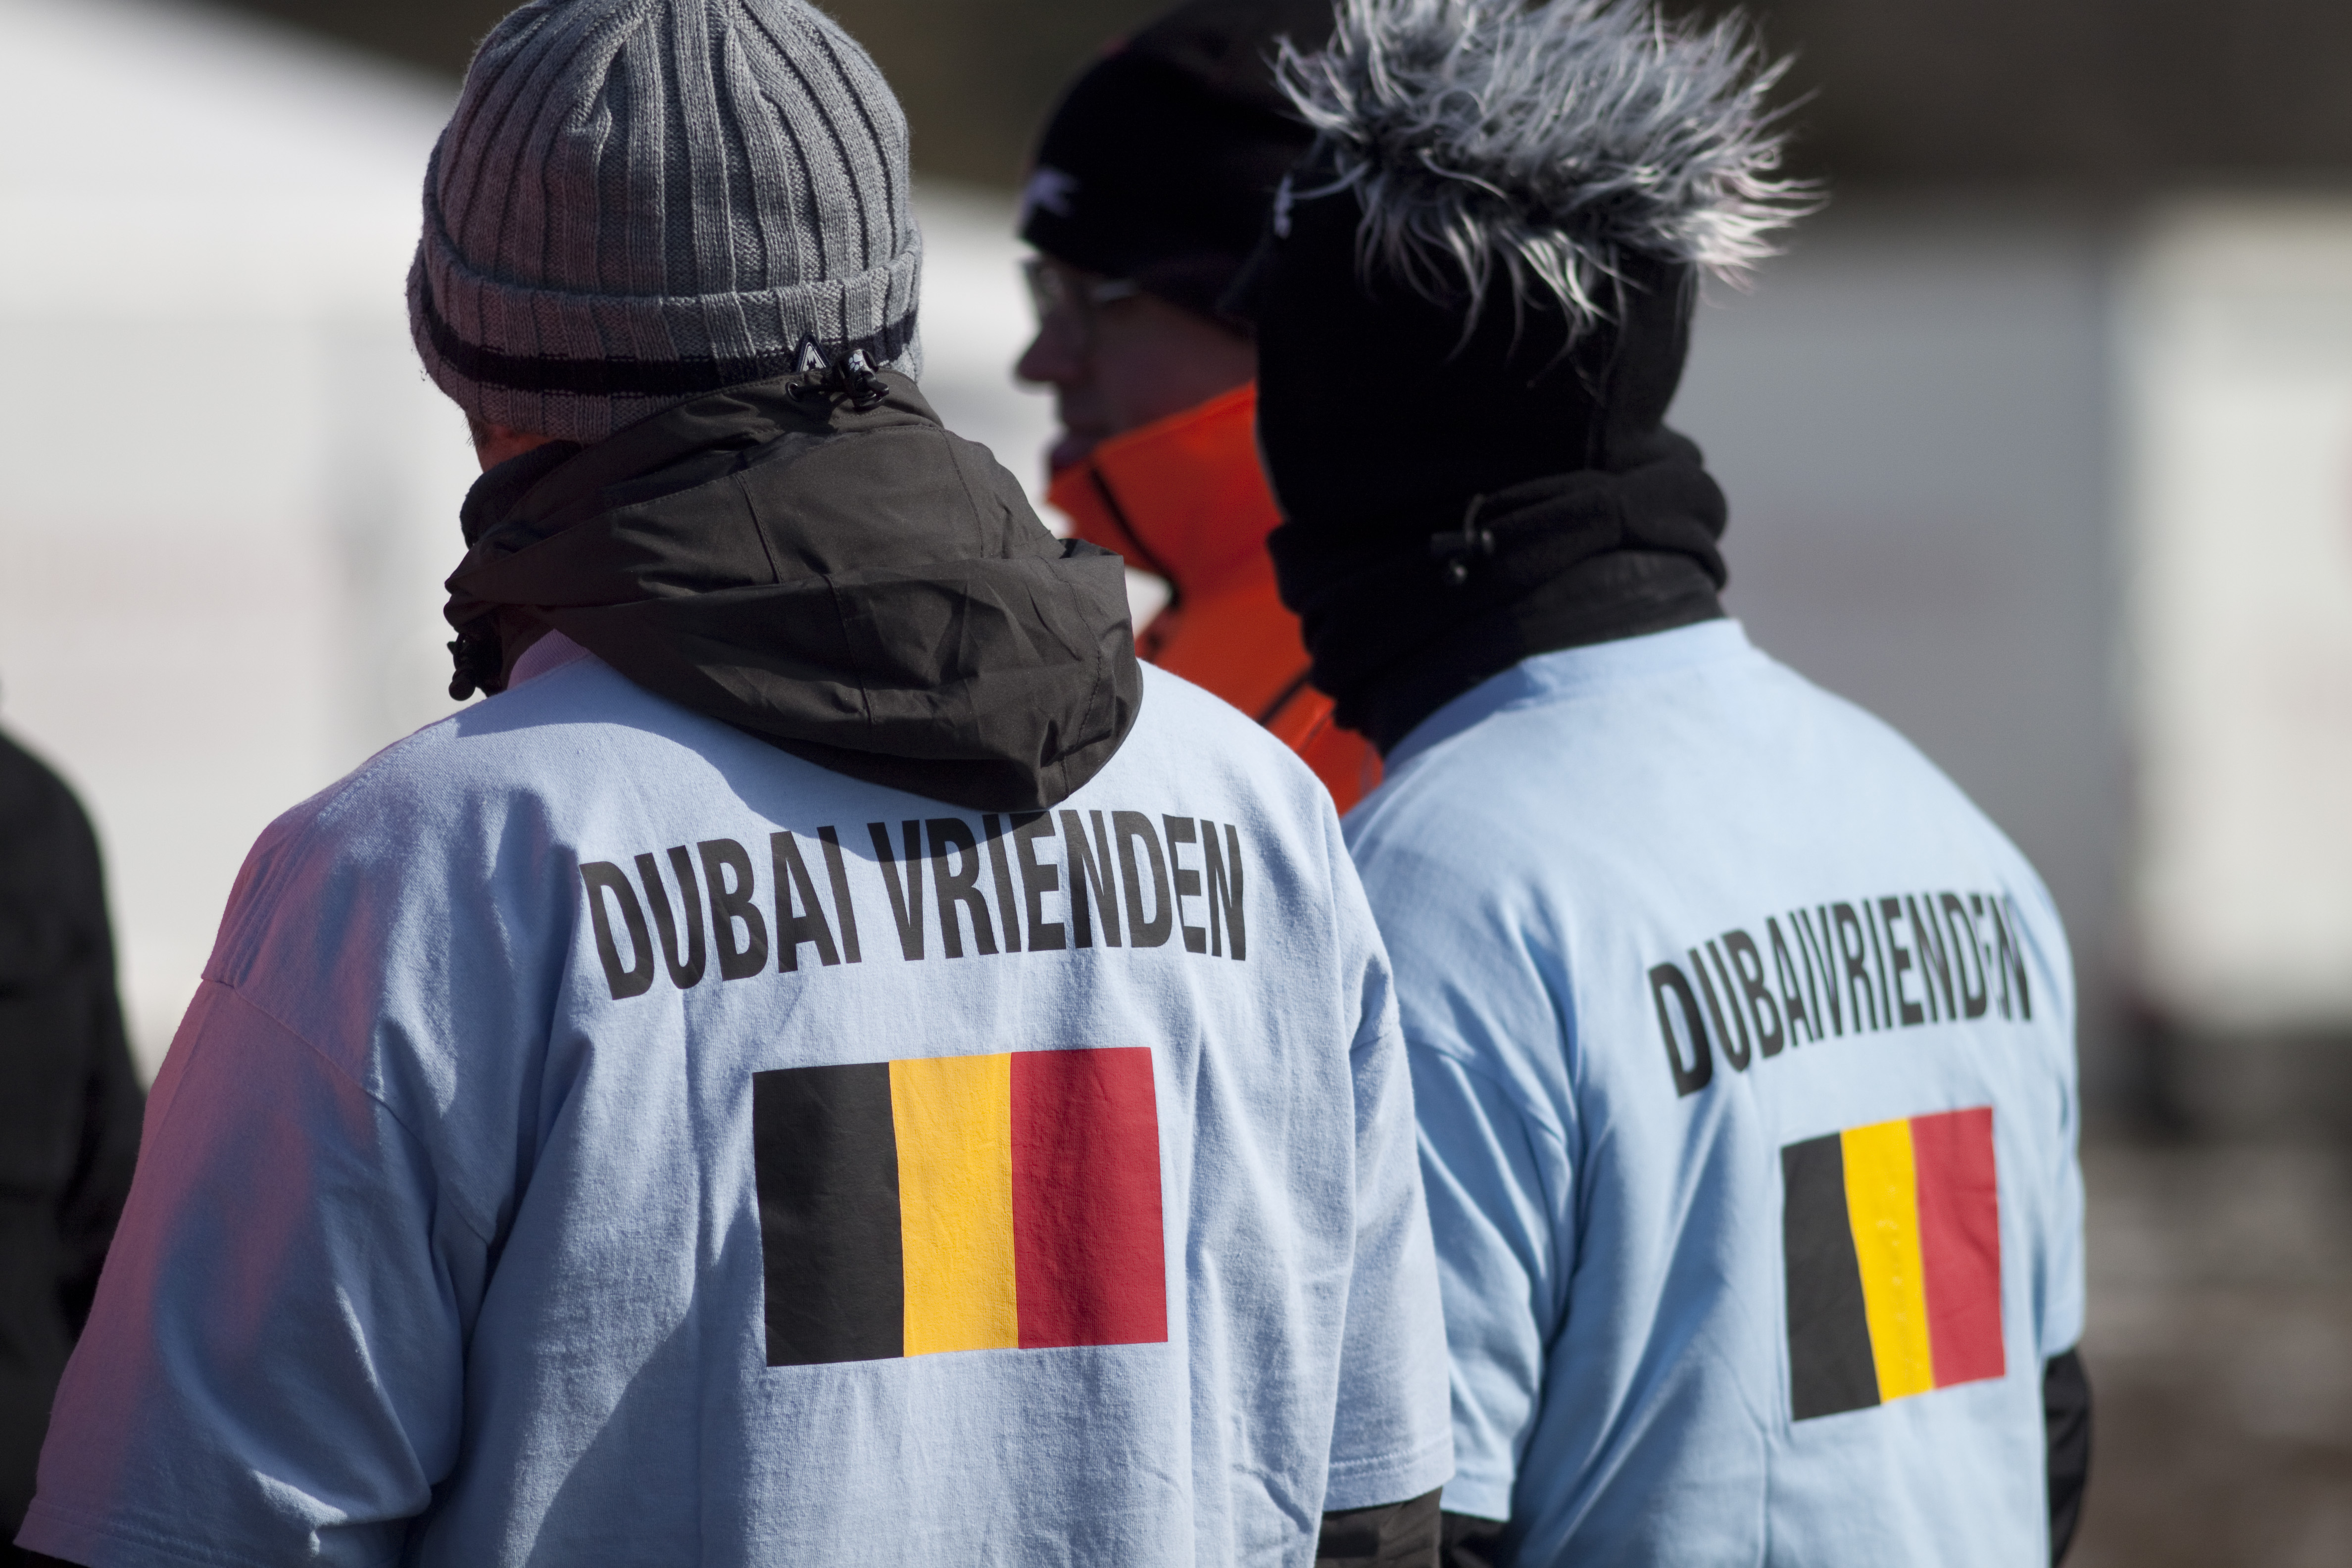
[[1696,280],[1632,256],[1611,320],[1364,287],[1357,202],[1303,200],[1251,280],[1268,541],[1336,719],[1397,745],[1522,658],[1722,616],[1724,496],[1665,428]]

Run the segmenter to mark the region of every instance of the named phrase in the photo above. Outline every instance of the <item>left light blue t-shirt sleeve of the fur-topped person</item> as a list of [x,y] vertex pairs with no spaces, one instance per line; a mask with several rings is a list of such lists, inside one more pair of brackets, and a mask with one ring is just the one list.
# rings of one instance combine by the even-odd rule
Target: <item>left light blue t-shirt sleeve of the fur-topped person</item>
[[1510,1519],[1519,1453],[1543,1401],[1543,1352],[1566,1314],[1562,1258],[1576,1241],[1559,1199],[1557,1133],[1479,1070],[1411,1048],[1421,1173],[1454,1378],[1449,1514]]

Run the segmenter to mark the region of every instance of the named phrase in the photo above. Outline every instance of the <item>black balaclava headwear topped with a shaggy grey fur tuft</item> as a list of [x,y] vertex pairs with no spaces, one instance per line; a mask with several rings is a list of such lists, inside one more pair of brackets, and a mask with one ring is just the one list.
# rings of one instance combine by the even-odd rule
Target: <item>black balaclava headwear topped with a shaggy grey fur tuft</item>
[[1383,752],[1534,654],[1724,614],[1724,496],[1665,409],[1700,270],[1809,205],[1778,71],[1649,0],[1338,0],[1284,59],[1317,139],[1230,301],[1282,602]]

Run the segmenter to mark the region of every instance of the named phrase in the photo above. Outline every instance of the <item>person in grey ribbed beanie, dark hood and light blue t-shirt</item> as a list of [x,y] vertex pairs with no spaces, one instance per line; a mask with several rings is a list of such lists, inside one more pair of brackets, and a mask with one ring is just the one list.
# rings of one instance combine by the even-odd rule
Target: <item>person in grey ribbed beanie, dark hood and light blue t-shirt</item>
[[1388,961],[915,388],[802,0],[534,0],[426,169],[459,696],[263,832],[19,1542],[92,1568],[1437,1549]]

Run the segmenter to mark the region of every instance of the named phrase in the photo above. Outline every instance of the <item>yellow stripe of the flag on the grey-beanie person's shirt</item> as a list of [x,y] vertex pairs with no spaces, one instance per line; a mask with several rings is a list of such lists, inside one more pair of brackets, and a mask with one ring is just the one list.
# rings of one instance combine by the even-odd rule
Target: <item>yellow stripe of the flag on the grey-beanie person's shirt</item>
[[889,1065],[906,1354],[1014,1349],[1014,1058]]

